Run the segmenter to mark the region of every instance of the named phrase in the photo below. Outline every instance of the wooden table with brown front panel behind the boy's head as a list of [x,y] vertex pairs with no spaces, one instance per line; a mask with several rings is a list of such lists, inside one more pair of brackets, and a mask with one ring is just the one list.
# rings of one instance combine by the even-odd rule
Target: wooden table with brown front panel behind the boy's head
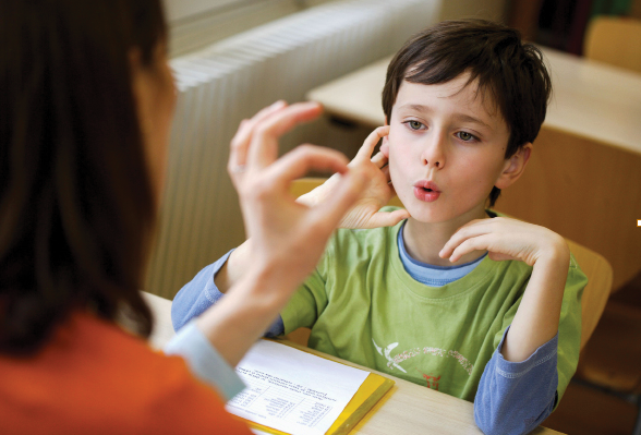
[[[641,74],[542,51],[553,99],[528,169],[497,208],[604,255],[616,289],[641,271]],[[388,62],[312,89],[307,98],[335,117],[382,125]]]

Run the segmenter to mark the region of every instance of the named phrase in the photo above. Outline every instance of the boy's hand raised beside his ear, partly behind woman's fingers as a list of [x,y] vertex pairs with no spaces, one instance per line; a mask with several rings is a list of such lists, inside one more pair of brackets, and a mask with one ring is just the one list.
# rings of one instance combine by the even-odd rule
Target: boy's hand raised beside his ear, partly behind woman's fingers
[[[378,141],[389,134],[389,126],[379,126],[374,130],[363,142],[363,146],[348,165],[350,171],[358,171],[366,180],[366,185],[361,192],[361,197],[353,207],[343,216],[340,228],[378,228],[391,227],[410,215],[407,210],[391,213],[378,212],[395,195],[390,184],[387,157],[383,153],[372,157],[374,147]],[[300,196],[297,201],[301,204],[315,205],[325,201],[338,182],[338,176],[330,177],[323,185],[312,192]]]

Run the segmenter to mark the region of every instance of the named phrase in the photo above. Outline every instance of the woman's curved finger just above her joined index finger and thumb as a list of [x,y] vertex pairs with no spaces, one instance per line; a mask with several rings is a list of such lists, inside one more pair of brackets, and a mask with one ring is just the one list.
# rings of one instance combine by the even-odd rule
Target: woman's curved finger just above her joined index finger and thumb
[[317,102],[299,102],[256,123],[247,150],[247,165],[256,169],[270,165],[278,156],[278,138],[297,124],[318,117],[320,111]]

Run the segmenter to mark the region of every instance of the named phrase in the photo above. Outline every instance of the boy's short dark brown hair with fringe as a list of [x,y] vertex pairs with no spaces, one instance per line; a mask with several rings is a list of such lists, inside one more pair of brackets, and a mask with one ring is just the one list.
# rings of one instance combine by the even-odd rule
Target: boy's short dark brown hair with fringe
[[[387,121],[403,80],[433,85],[469,72],[481,96],[488,96],[505,119],[505,158],[533,142],[545,120],[552,82],[541,51],[518,31],[483,20],[444,21],[411,37],[387,68],[383,110]],[[493,206],[500,189],[489,193]]]

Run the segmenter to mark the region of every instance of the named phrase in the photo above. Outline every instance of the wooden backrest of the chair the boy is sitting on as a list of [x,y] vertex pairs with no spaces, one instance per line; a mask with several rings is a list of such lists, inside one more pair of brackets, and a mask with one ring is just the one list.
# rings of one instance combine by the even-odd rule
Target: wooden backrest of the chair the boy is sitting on
[[[325,179],[323,178],[304,178],[295,180],[290,189],[290,192],[294,196],[300,196],[304,193],[310,192],[314,188],[323,184]],[[395,205],[402,207],[402,203],[397,196],[392,197],[388,205]],[[613,282],[613,269],[607,259],[601,254],[589,250],[579,243],[572,242],[566,239],[570,252],[579,263],[579,267],[588,277],[588,285],[583,290],[581,298],[581,350],[592,336],[603,310],[605,303],[609,297]],[[288,336],[292,341],[299,342],[306,346],[309,331],[294,331],[293,335]]]

